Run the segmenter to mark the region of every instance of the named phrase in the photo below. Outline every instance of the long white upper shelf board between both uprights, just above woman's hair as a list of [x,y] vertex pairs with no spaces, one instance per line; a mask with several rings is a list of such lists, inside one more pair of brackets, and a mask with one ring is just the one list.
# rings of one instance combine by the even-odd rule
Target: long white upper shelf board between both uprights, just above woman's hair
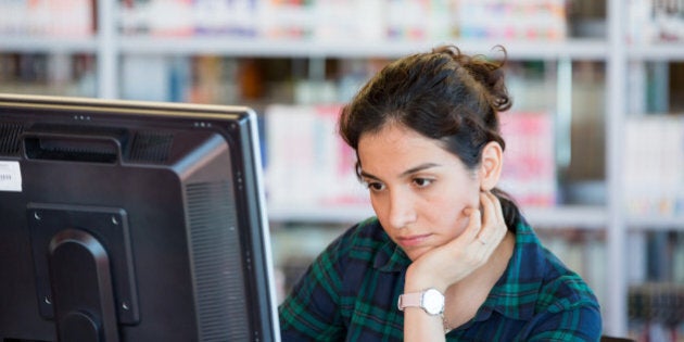
[[[448,41],[446,41],[448,42]],[[556,60],[561,58],[605,60],[605,40],[570,39],[563,41],[494,41],[487,39],[453,40],[467,52],[495,58],[494,47],[502,45],[510,60]],[[218,54],[228,56],[289,58],[396,58],[423,52],[445,41],[314,41],[229,37],[119,37],[123,54]]]

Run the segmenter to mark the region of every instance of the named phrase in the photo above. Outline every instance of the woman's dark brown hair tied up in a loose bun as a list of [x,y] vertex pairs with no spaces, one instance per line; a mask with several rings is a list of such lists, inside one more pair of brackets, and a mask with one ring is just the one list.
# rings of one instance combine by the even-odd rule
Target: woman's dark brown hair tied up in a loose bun
[[[339,131],[358,150],[358,140],[395,123],[442,142],[469,169],[480,165],[490,141],[506,148],[498,113],[511,99],[502,69],[506,61],[493,63],[482,55],[467,55],[454,46],[411,54],[387,65],[342,109]],[[357,162],[359,174],[360,164]],[[520,219],[517,205],[505,192],[494,189],[509,229]]]

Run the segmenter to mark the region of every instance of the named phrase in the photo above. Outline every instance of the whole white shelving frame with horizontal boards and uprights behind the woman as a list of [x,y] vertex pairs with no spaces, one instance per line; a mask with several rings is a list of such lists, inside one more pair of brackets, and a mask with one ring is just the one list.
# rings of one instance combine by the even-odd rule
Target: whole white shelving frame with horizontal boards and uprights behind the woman
[[[510,60],[545,61],[599,61],[606,64],[606,185],[605,206],[561,206],[557,208],[525,208],[530,221],[540,227],[581,227],[606,229],[607,263],[610,279],[609,296],[603,303],[605,330],[608,334],[625,335],[626,284],[625,235],[642,227],[656,229],[684,229],[684,217],[635,217],[626,215],[623,207],[622,186],[622,135],[625,121],[628,63],[630,61],[682,61],[684,45],[628,46],[625,1],[606,0],[606,39],[569,39],[558,42],[506,41],[504,46]],[[30,38],[0,36],[2,52],[92,53],[98,63],[98,94],[101,98],[118,98],[119,58],[132,54],[197,55],[218,54],[226,56],[284,56],[284,58],[395,58],[411,52],[426,51],[444,41],[421,42],[325,42],[302,40],[231,39],[231,38],[149,38],[122,36],[116,31],[115,1],[98,0],[98,35],[84,39]],[[452,41],[464,51],[487,54],[501,43],[492,40]],[[496,52],[494,52],[496,53]],[[289,210],[270,207],[269,218],[275,221],[327,221],[353,223],[372,212],[366,208],[308,208]]]

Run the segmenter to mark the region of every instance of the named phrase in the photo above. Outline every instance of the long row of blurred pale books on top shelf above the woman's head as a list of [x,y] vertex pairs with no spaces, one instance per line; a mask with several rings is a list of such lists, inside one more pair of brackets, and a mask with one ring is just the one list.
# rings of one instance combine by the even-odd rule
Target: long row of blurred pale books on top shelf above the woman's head
[[[83,0],[81,0],[83,1]],[[122,31],[274,40],[560,40],[567,0],[127,0]]]

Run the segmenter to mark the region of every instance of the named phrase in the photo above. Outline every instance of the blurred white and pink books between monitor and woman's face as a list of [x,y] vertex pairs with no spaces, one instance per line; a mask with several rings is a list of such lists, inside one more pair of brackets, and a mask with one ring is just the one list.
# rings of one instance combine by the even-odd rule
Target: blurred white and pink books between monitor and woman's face
[[269,206],[341,208],[368,204],[356,155],[335,131],[339,105],[269,105],[265,169]]

